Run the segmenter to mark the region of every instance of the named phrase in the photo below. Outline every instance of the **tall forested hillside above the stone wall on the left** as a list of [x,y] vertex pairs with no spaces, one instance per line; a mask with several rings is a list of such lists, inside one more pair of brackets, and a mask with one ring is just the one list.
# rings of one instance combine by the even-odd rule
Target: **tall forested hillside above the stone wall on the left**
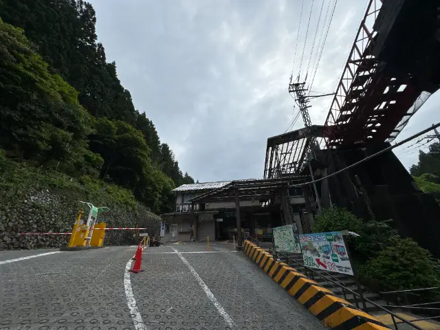
[[0,148],[16,162],[130,190],[153,212],[173,208],[183,175],[97,43],[91,4],[0,1]]

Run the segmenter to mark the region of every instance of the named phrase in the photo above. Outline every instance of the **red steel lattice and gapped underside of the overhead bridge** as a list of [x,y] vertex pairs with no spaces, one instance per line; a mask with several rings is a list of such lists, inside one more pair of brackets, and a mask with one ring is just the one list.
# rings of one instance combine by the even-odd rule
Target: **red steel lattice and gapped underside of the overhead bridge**
[[325,121],[329,148],[391,141],[428,97],[412,80],[386,74],[372,54],[382,0],[370,0]]

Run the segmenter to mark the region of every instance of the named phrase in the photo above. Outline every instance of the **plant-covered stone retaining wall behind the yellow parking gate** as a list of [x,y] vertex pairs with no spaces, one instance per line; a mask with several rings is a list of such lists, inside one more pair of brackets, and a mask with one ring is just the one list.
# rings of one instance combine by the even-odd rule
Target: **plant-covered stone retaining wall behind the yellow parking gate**
[[[3,197],[3,198],[2,198]],[[69,241],[66,236],[17,236],[20,232],[71,232],[83,208],[83,220],[87,219],[88,208],[79,201],[87,201],[80,192],[29,188],[28,190],[3,190],[0,192],[0,250],[59,248]],[[91,201],[92,203],[97,203]],[[108,206],[111,212],[98,215],[98,222],[107,223],[107,227],[151,228],[150,236],[159,229],[159,221],[153,219],[146,208],[138,206],[129,210],[123,206]],[[106,232],[104,245],[127,245],[137,243],[133,231]]]

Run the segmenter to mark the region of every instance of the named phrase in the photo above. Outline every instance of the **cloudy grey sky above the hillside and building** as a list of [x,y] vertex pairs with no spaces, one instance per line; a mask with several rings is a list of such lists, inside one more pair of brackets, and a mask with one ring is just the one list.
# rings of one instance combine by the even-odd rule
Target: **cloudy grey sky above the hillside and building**
[[[321,24],[333,3],[314,1],[303,76],[310,57],[313,67],[322,1]],[[107,61],[116,61],[135,107],[153,120],[181,169],[199,181],[263,176],[267,137],[283,133],[296,112],[287,87],[304,48],[311,1],[304,2],[296,43],[300,0],[91,0]],[[338,1],[314,91],[336,88],[366,2]],[[324,122],[330,101],[312,103],[314,124]],[[397,140],[438,121],[438,101],[432,96]],[[302,126],[298,120],[293,129]],[[420,144],[396,149],[406,167],[417,162]]]

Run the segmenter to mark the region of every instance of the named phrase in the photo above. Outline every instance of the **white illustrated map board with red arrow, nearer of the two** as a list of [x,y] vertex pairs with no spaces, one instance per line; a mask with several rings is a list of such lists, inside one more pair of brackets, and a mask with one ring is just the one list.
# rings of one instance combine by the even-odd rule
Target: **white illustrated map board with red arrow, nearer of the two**
[[353,275],[341,232],[320,232],[299,236],[304,265],[318,270]]

